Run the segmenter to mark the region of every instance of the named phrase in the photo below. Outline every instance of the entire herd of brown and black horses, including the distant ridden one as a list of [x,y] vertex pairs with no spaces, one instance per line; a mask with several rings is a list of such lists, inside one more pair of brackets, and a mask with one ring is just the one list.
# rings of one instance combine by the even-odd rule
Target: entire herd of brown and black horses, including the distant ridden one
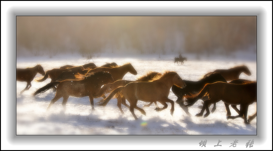
[[[186,58],[182,59],[183,61],[186,60]],[[92,110],[94,110],[94,98],[103,97],[97,102],[97,105],[105,106],[114,97],[117,98],[117,106],[121,113],[124,113],[121,108],[121,104],[123,104],[129,108],[136,120],[138,118],[134,113],[134,109],[146,115],[142,108],[137,107],[138,100],[149,103],[144,107],[149,107],[152,103],[155,103],[156,111],[166,109],[168,107],[167,103],[170,103],[170,113],[173,115],[174,101],[168,98],[171,89],[177,96],[176,103],[188,115],[191,115],[188,107],[192,106],[197,100],[202,99],[204,103],[201,112],[196,116],[202,116],[206,110],[204,117],[207,117],[210,114],[209,106],[214,104],[213,113],[216,109],[216,103],[220,100],[225,104],[227,119],[242,117],[244,123],[249,124],[257,116],[256,112],[247,119],[248,106],[253,102],[257,102],[257,82],[239,79],[241,73],[251,75],[245,65],[230,69],[217,69],[205,74],[199,81],[182,80],[174,71],[166,71],[165,73],[149,72],[135,81],[122,80],[128,72],[133,75],[137,74],[137,71],[130,63],[122,66],[118,66],[116,63],[107,63],[101,67],[97,67],[94,63],[76,67],[65,65],[46,72],[38,64],[32,68],[17,68],[16,80],[27,82],[25,89],[20,92],[22,94],[31,87],[31,81],[37,73],[44,77],[35,79],[36,82],[42,82],[50,77],[51,82],[39,88],[33,94],[41,94],[51,88],[56,91],[55,97],[51,100],[47,110],[61,97],[63,97],[62,106],[64,110],[66,110],[69,96],[88,96]],[[106,97],[105,95],[108,93],[110,94]],[[130,105],[127,105],[126,100]],[[157,102],[161,103],[163,107],[158,107]],[[237,116],[231,116],[229,105],[238,113]],[[240,105],[240,109],[236,107],[237,105]]]

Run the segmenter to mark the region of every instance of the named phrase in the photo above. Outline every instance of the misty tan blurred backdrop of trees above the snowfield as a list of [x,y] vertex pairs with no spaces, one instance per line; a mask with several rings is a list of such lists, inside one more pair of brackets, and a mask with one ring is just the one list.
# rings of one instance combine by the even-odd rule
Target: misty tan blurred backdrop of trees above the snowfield
[[257,16],[17,16],[16,57],[257,53]]

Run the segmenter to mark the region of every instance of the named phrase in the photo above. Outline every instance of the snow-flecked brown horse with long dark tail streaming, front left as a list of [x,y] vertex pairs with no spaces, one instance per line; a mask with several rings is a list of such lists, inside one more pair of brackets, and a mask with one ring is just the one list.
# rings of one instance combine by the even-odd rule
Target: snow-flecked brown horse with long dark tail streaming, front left
[[61,97],[64,98],[62,106],[66,110],[66,103],[69,96],[74,97],[86,97],[90,98],[90,105],[94,110],[94,96],[99,91],[100,87],[104,84],[111,83],[114,81],[112,75],[109,72],[97,71],[89,76],[81,75],[82,80],[64,80],[55,81],[47,84],[44,87],[38,89],[33,95],[41,94],[52,87],[57,86],[55,97],[51,100],[47,110],[50,109]]

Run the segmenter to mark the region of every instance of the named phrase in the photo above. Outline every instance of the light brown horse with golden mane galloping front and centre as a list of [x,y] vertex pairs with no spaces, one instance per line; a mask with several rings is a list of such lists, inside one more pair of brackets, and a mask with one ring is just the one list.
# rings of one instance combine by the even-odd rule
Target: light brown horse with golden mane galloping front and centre
[[[150,82],[131,82],[125,86],[117,87],[106,99],[99,101],[98,105],[105,106],[115,94],[119,93],[119,95],[125,97],[130,103],[130,112],[135,120],[137,120],[137,117],[134,113],[134,108],[146,115],[146,112],[143,109],[136,106],[138,100],[144,102],[158,101],[164,105],[162,108],[157,107],[155,109],[156,111],[166,109],[168,107],[166,102],[171,103],[172,107],[170,113],[173,115],[174,102],[168,98],[170,88],[173,84],[186,87],[186,84],[176,72],[167,71],[162,76],[154,78]],[[123,93],[121,91],[123,91]]]

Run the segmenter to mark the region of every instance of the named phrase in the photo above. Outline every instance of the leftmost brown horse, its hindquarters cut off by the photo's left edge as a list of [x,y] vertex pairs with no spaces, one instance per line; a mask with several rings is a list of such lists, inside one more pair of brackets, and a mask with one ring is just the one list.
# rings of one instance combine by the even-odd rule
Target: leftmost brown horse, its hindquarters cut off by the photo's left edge
[[43,76],[45,74],[44,68],[40,64],[32,68],[26,68],[26,69],[16,68],[16,80],[27,82],[27,86],[25,87],[24,90],[21,90],[20,94],[22,94],[25,90],[28,90],[31,87],[31,81],[34,79],[37,73]]

